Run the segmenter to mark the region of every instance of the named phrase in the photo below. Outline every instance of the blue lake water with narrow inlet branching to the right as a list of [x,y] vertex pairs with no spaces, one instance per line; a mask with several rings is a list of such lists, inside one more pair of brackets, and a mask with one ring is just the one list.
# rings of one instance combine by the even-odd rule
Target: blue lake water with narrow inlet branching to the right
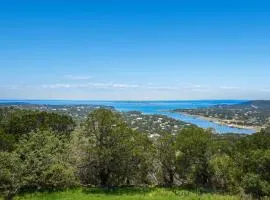
[[71,100],[0,100],[0,103],[31,103],[31,104],[47,104],[47,105],[105,105],[113,106],[119,111],[140,111],[144,114],[162,114],[184,122],[196,124],[202,128],[214,128],[218,133],[242,133],[252,134],[255,131],[250,129],[232,128],[226,125],[219,125],[198,117],[191,117],[178,113],[166,112],[177,108],[200,108],[209,107],[219,104],[237,104],[245,101],[240,100],[203,100],[203,101],[71,101]]

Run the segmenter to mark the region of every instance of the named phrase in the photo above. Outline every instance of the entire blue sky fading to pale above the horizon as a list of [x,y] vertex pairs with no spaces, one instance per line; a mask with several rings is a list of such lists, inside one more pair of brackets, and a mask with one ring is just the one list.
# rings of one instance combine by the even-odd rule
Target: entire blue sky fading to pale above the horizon
[[270,99],[270,3],[0,1],[1,99]]

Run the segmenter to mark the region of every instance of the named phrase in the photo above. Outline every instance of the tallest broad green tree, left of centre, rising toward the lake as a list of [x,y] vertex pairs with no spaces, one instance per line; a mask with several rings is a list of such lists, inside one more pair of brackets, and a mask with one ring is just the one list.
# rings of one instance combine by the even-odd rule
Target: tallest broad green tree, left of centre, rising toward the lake
[[144,144],[149,144],[147,137],[128,128],[119,113],[93,111],[83,132],[89,139],[89,157],[81,170],[84,183],[103,187],[131,184],[139,169],[147,170],[143,151]]

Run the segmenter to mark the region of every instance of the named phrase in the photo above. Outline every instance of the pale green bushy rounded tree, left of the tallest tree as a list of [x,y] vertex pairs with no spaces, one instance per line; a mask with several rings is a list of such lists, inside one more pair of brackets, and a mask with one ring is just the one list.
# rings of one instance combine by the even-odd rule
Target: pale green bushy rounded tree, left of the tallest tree
[[68,139],[49,131],[30,133],[19,141],[16,153],[23,163],[28,187],[57,189],[75,183]]

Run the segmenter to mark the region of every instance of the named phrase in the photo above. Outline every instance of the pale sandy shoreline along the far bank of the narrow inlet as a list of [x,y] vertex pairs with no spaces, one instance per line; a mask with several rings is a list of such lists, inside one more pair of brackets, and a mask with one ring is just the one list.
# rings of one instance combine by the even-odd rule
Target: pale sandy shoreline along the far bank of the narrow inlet
[[201,116],[201,115],[192,115],[192,114],[185,113],[185,112],[175,112],[175,113],[179,113],[179,114],[187,115],[187,116],[191,116],[191,117],[197,117],[197,118],[200,118],[203,120],[207,120],[207,121],[219,124],[219,125],[226,125],[226,126],[229,126],[232,128],[249,129],[249,130],[253,130],[256,132],[259,132],[263,128],[260,126],[245,126],[245,125],[232,124],[232,123],[228,123],[222,119],[215,118],[215,117],[205,117],[205,116]]

